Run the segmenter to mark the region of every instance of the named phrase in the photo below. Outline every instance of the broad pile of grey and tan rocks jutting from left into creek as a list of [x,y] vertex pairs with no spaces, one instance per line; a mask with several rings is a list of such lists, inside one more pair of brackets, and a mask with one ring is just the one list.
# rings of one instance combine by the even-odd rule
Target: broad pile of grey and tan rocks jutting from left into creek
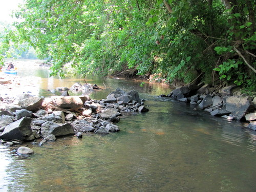
[[42,145],[59,136],[109,134],[119,131],[114,123],[122,114],[147,111],[137,91],[117,89],[102,100],[87,95],[42,99],[25,94],[17,104],[1,106],[0,139],[8,146],[35,139]]

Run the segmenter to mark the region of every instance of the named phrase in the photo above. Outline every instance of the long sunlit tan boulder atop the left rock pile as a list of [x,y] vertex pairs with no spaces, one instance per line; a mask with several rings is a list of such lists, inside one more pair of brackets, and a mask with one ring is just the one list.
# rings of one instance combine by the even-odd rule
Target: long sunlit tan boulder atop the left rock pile
[[78,110],[82,108],[83,102],[78,96],[52,96],[53,103],[58,108]]

